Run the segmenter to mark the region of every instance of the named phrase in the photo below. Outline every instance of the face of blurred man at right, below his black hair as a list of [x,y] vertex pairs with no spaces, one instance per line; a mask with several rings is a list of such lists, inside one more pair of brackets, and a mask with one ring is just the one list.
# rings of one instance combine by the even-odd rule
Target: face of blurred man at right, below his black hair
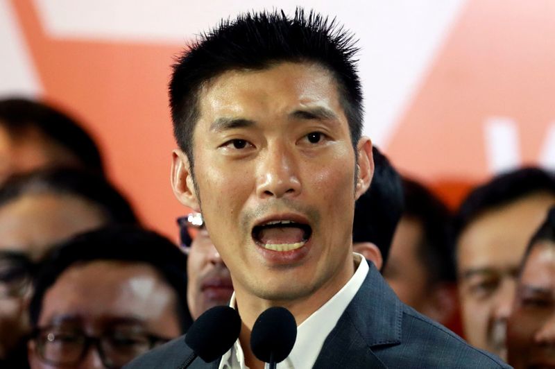
[[511,312],[520,259],[555,203],[532,194],[472,221],[457,245],[463,329],[471,345],[506,357],[504,325]]

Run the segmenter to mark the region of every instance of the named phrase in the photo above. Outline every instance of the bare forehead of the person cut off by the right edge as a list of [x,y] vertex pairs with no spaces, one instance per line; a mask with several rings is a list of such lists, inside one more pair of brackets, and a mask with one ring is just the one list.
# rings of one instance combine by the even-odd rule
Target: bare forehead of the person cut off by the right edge
[[555,291],[555,243],[538,241],[526,259],[520,282]]

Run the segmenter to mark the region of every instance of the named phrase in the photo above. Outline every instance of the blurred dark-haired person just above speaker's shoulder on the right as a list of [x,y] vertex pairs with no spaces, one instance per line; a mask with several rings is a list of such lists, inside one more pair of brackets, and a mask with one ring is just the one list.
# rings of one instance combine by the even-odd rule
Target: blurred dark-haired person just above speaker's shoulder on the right
[[457,307],[452,216],[422,184],[402,183],[404,212],[383,275],[402,302],[445,325]]

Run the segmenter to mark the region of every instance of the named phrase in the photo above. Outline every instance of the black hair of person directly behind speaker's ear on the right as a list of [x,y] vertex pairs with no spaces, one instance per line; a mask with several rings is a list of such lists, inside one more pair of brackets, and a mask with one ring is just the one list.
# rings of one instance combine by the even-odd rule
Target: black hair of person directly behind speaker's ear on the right
[[395,229],[404,211],[401,176],[375,146],[374,175],[370,188],[355,203],[353,242],[374,243],[382,253],[384,268]]

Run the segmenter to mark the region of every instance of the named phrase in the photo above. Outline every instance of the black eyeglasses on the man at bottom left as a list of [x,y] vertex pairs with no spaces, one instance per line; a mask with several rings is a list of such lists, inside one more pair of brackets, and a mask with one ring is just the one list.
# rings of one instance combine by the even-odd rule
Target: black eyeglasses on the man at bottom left
[[38,357],[52,366],[76,366],[94,345],[103,365],[110,369],[121,368],[135,357],[170,340],[136,332],[88,336],[80,330],[56,326],[35,329],[31,339],[35,341]]

